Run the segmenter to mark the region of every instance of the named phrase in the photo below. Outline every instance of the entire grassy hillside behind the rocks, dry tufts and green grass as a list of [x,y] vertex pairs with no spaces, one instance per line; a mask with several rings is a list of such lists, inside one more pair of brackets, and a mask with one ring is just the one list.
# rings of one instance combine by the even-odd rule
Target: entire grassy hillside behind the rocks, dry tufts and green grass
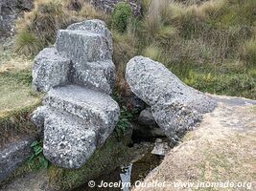
[[35,55],[54,43],[58,29],[100,18],[113,32],[121,93],[127,89],[126,63],[143,54],[164,63],[200,91],[256,98],[254,0],[143,0],[142,16],[130,16],[125,28],[122,19],[128,9],[124,4],[106,15],[83,1],[78,1],[79,6],[74,2],[35,0],[35,9],[17,22],[16,51]]

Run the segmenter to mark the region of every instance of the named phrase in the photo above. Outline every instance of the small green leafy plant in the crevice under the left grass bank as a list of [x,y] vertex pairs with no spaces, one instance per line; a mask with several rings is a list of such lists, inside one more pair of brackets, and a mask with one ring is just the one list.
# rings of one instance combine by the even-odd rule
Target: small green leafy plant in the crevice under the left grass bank
[[49,167],[49,161],[43,155],[43,146],[41,140],[35,140],[31,144],[31,148],[33,149],[33,154],[28,160],[28,165],[31,169],[40,170],[46,169]]

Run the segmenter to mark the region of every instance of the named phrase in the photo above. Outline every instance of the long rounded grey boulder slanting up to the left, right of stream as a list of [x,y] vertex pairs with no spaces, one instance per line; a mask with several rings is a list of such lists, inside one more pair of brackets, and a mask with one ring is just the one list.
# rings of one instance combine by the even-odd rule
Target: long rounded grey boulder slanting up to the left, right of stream
[[152,116],[165,134],[177,139],[195,127],[216,101],[185,85],[163,64],[136,56],[127,65],[131,91],[151,106]]

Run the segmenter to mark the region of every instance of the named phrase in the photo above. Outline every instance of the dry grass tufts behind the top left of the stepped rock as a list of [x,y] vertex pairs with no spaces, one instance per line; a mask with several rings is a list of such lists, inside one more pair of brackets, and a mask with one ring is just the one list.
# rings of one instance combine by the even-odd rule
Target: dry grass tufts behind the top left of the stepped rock
[[106,20],[101,11],[81,0],[35,0],[35,8],[25,13],[16,23],[15,50],[26,55],[35,55],[54,43],[59,29],[74,22],[99,18]]

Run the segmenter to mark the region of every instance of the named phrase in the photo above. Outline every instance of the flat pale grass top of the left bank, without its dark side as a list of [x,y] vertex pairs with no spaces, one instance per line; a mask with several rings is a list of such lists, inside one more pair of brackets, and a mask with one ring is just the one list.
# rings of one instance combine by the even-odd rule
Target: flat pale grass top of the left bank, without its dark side
[[38,104],[40,95],[31,88],[33,61],[0,48],[0,117]]

